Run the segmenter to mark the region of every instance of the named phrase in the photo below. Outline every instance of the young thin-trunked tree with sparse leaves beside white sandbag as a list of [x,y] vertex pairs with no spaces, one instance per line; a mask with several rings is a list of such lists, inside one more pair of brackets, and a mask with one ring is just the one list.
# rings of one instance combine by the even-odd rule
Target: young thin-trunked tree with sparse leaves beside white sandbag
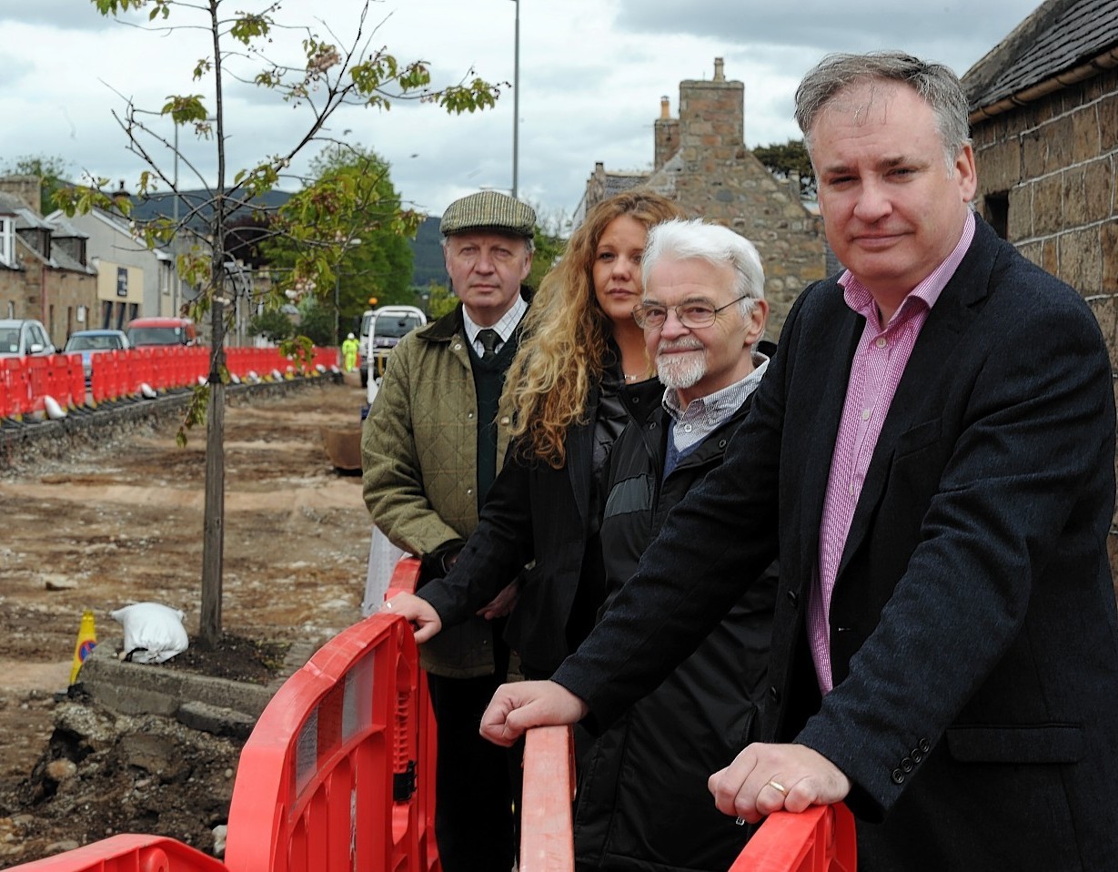
[[[278,20],[278,1],[264,0],[91,0],[105,16],[127,16],[134,11],[148,12],[148,25],[142,29],[164,37],[176,31],[202,31],[207,37],[208,54],[193,66],[196,87],[207,93],[178,93],[167,99],[159,109],[144,110],[131,101],[124,110],[114,112],[123,129],[129,148],[148,166],[140,174],[138,191],[143,195],[157,189],[178,194],[178,171],[161,165],[157,154],[176,154],[193,170],[189,156],[176,146],[152,122],[169,118],[179,129],[208,141],[216,159],[216,177],[203,178],[195,172],[207,191],[203,204],[191,204],[177,221],[162,218],[138,231],[151,246],[165,245],[189,225],[201,219],[207,226],[208,252],[198,247],[180,254],[179,270],[187,281],[201,288],[192,306],[200,319],[209,315],[211,325],[210,366],[207,384],[195,397],[187,413],[184,426],[206,421],[206,494],[202,524],[202,585],[201,639],[216,645],[221,637],[221,574],[225,529],[225,368],[224,343],[227,320],[233,313],[234,294],[247,284],[237,285],[226,275],[226,232],[231,216],[252,210],[257,198],[275,188],[291,167],[292,160],[312,142],[332,142],[343,146],[342,139],[329,134],[330,118],[347,104],[387,109],[398,100],[417,100],[434,103],[453,113],[473,112],[492,106],[499,90],[480,78],[467,78],[442,88],[432,87],[430,74],[423,60],[401,63],[383,49],[372,47],[376,28],[366,19],[370,0],[360,4],[360,22],[352,39],[342,45],[332,37],[322,37],[309,26],[297,26]],[[133,22],[134,21],[130,21]],[[282,50],[274,43],[286,31],[299,29],[304,34],[297,59],[285,62],[269,57],[271,51]],[[262,153],[255,165],[231,174],[227,167],[226,88],[227,82],[253,83],[273,92],[283,102],[305,112],[305,125],[285,143],[268,143],[271,153]],[[107,179],[91,178],[85,186],[69,188],[59,197],[70,214],[76,209],[110,206],[112,194],[106,190]],[[352,186],[347,178],[320,184],[314,197],[306,201],[306,209],[281,218],[273,229],[285,233],[301,243],[300,253],[284,280],[274,285],[273,308],[300,300],[309,294],[326,298],[334,288],[338,264],[352,242],[361,238],[363,226],[353,221],[353,210],[331,208],[352,198]],[[174,198],[178,201],[178,198]],[[123,204],[127,207],[127,204]],[[397,216],[398,228],[410,224],[407,216]],[[303,223],[301,223],[303,222]],[[254,306],[258,301],[250,301]],[[309,346],[304,343],[303,347]],[[180,431],[184,439],[184,431]]]

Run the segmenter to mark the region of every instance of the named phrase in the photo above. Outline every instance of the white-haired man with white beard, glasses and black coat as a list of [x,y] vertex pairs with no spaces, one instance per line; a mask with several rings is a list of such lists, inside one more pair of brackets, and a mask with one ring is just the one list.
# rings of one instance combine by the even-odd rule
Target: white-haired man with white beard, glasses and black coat
[[[620,391],[629,421],[607,468],[606,607],[669,509],[722,462],[768,366],[756,350],[768,316],[765,275],[747,240],[699,221],[666,222],[650,232],[642,271],[634,318],[660,381]],[[714,808],[707,779],[758,738],[776,580],[774,564],[582,761],[580,872],[724,870],[737,857],[748,833]]]

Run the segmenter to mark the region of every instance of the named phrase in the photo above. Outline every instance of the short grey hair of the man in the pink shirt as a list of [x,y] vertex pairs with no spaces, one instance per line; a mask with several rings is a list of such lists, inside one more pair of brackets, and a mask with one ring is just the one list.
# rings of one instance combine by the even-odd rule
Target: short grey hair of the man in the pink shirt
[[836,53],[808,71],[796,90],[796,123],[812,153],[811,131],[819,113],[840,93],[862,83],[899,83],[911,87],[936,116],[936,132],[950,169],[970,142],[967,97],[959,77],[942,64],[921,60],[903,51]]

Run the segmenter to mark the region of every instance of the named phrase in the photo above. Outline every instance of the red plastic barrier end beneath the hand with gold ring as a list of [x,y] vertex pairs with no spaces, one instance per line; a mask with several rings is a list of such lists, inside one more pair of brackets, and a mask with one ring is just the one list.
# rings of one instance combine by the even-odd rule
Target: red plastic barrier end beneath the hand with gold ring
[[842,803],[769,815],[730,872],[854,872],[854,816]]

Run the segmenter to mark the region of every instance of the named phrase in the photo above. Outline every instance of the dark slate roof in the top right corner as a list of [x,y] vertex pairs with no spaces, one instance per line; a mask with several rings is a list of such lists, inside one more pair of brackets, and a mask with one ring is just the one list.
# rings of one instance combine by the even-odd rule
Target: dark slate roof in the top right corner
[[1048,0],[963,76],[972,112],[1118,49],[1118,0]]

